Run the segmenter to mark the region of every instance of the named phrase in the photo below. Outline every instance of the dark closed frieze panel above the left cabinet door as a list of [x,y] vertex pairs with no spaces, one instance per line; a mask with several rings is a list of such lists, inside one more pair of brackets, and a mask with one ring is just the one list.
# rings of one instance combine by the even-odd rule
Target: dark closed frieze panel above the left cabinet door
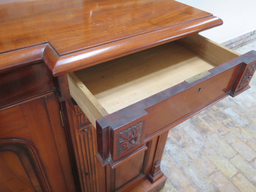
[[34,64],[0,73],[0,107],[51,92],[52,76],[44,64]]

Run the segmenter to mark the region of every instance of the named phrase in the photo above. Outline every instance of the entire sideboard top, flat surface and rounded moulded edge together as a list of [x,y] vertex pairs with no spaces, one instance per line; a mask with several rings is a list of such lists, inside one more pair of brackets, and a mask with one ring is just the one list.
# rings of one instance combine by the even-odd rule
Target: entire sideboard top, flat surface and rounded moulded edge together
[[221,24],[174,0],[1,0],[0,72],[43,61],[58,76]]

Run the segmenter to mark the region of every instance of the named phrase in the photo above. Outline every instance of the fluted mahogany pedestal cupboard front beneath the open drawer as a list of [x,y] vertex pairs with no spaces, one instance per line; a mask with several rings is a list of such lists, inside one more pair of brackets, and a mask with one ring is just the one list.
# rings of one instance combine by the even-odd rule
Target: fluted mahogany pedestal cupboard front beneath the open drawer
[[160,162],[168,132],[150,140],[146,144],[148,150],[124,164],[114,169],[102,167],[94,156],[97,143],[92,124],[73,100],[67,100],[63,107],[70,124],[68,139],[72,143],[81,191],[157,191],[162,188],[166,177],[160,170]]

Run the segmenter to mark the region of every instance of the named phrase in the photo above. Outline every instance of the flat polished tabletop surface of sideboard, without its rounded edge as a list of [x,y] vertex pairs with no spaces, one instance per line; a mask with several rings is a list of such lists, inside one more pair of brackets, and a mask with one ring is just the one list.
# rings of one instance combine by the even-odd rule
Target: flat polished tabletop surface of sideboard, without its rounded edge
[[173,0],[18,1],[0,12],[1,52],[49,42],[61,56],[212,16]]

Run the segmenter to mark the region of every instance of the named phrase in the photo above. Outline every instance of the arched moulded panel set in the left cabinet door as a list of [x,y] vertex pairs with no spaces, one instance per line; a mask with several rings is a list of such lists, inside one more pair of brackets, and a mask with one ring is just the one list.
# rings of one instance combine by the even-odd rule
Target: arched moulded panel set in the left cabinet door
[[[9,162],[2,162],[7,166],[7,169],[4,169],[4,174],[11,175],[11,178],[7,177],[1,180],[1,190],[5,188],[6,191],[24,191],[18,185],[22,184],[26,186],[27,190],[50,192],[50,186],[34,144],[18,138],[2,139],[0,140],[0,154],[4,159],[16,159],[14,162],[17,163],[13,164],[12,159]],[[15,172],[13,172],[14,170]],[[24,181],[22,181],[22,178],[24,178]]]

